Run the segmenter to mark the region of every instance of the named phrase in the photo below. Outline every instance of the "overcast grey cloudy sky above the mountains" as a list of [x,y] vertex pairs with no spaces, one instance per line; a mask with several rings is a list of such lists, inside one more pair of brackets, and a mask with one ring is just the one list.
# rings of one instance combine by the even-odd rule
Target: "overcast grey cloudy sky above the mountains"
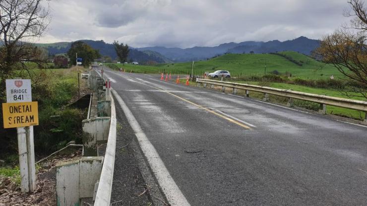
[[320,39],[348,19],[347,0],[51,0],[37,42],[118,40],[131,47]]

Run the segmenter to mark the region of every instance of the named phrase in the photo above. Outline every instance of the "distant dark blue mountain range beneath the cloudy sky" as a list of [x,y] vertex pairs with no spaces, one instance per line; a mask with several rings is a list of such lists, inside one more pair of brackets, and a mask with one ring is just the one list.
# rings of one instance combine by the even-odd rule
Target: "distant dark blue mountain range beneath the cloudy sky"
[[[100,51],[102,55],[109,55],[112,59],[117,57],[114,46],[104,41],[80,40]],[[54,44],[38,44],[45,47],[50,54],[65,53],[72,42],[60,42]],[[277,51],[297,51],[310,55],[311,51],[319,47],[319,40],[299,37],[294,40],[280,42],[278,40],[268,42],[246,41],[241,43],[225,43],[216,47],[193,47],[187,49],[145,47],[130,48],[129,59],[138,62],[155,61],[157,63],[184,62],[191,60],[202,60],[224,53],[269,53]]]

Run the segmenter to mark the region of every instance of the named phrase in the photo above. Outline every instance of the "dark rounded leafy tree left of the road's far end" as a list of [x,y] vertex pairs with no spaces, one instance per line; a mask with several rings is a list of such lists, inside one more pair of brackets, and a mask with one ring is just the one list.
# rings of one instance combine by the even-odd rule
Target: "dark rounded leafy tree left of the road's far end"
[[82,65],[84,66],[89,66],[95,58],[101,57],[98,50],[93,49],[91,46],[81,41],[73,42],[70,49],[67,51],[71,64],[76,63],[76,54],[78,54],[78,58],[82,58]]

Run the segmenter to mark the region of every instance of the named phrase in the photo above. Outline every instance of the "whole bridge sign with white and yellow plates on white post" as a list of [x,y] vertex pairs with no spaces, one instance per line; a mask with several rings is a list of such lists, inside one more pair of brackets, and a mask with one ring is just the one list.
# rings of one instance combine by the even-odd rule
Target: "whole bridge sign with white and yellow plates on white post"
[[6,102],[2,103],[4,128],[16,127],[23,193],[36,190],[33,125],[38,125],[38,103],[32,102],[30,79],[6,79]]

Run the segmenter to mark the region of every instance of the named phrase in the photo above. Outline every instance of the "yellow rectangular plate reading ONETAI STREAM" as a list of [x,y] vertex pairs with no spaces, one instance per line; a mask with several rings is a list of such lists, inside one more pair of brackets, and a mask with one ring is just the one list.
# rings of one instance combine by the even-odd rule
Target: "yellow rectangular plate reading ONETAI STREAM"
[[4,128],[38,125],[38,102],[2,103]]

